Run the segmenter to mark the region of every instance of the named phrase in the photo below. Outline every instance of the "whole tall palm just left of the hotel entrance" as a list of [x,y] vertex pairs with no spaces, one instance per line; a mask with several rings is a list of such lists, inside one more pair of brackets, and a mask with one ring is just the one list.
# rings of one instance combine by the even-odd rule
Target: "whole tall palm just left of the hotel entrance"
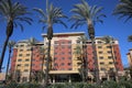
[[45,29],[45,25],[47,26],[47,40],[48,40],[48,48],[47,48],[47,59],[46,59],[46,70],[45,70],[45,82],[44,87],[46,88],[48,84],[48,72],[50,72],[50,58],[51,58],[51,40],[53,37],[53,25],[54,24],[63,24],[65,28],[67,25],[62,21],[63,18],[67,18],[61,8],[56,8],[53,4],[50,4],[46,0],[46,11],[43,11],[42,9],[34,9],[41,14],[41,19],[38,22],[43,23]]

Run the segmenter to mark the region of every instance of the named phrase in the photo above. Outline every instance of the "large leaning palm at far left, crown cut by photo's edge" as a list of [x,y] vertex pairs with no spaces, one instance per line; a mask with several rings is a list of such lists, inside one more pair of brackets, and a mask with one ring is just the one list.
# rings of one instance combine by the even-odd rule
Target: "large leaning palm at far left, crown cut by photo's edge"
[[7,20],[7,31],[6,31],[7,37],[6,37],[1,57],[0,57],[1,58],[0,70],[2,67],[8,41],[13,34],[14,28],[20,26],[21,30],[23,31],[22,22],[26,22],[29,24],[31,24],[32,22],[32,19],[28,18],[28,15],[25,14],[29,14],[28,8],[25,8],[21,3],[19,2],[12,3],[11,0],[0,1],[0,16],[3,16],[3,19]]

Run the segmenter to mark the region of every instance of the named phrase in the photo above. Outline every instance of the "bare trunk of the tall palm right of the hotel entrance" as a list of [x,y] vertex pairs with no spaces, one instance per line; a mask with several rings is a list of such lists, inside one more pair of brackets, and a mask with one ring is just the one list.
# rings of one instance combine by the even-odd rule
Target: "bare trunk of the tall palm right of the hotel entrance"
[[92,53],[94,53],[94,59],[95,59],[95,78],[96,78],[97,85],[100,85],[99,67],[98,67],[99,65],[98,65],[95,38],[91,38],[91,44],[92,44]]

